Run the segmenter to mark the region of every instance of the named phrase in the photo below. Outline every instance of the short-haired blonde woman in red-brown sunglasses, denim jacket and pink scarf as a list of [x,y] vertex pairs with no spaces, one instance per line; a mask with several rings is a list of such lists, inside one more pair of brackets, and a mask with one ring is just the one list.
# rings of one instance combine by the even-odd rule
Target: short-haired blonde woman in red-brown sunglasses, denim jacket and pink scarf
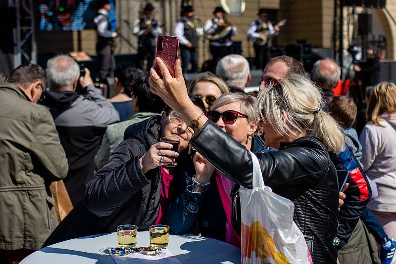
[[[255,102],[253,96],[241,92],[223,94],[207,112],[207,118],[248,150],[261,153],[269,148],[260,137],[254,136],[258,122]],[[172,232],[191,233],[198,221],[203,236],[241,247],[241,238],[231,226],[230,189],[234,182],[221,175],[199,153],[194,157],[194,165],[195,173],[184,174],[188,186],[184,186],[168,210],[167,222]]]

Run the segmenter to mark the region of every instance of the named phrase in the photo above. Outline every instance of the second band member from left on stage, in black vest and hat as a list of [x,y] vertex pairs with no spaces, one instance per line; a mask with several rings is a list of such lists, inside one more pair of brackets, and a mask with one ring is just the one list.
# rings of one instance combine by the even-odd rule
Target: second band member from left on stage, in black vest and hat
[[154,19],[154,6],[146,4],[144,16],[134,23],[133,34],[138,37],[138,67],[143,70],[144,60],[147,58],[147,69],[154,62],[155,37],[162,35],[161,25]]

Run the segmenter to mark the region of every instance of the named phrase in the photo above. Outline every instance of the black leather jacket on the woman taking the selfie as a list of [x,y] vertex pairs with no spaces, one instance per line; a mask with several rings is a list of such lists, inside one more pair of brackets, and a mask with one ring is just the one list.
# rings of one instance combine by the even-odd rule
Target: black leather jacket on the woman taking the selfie
[[[219,171],[251,188],[252,160],[248,150],[207,121],[192,145]],[[226,154],[226,155],[225,155]],[[325,146],[304,136],[281,143],[279,151],[256,154],[264,182],[295,204],[294,221],[312,245],[313,263],[337,261],[333,239],[337,232],[338,179]]]

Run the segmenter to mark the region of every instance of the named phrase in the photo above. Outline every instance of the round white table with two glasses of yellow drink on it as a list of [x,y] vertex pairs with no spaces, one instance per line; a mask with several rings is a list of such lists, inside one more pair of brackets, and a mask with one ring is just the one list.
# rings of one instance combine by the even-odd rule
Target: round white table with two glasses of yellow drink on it
[[[137,246],[149,246],[148,232],[138,232]],[[117,247],[117,233],[75,238],[50,245],[21,264],[115,264],[101,249]],[[167,247],[181,263],[241,263],[241,250],[225,242],[197,235],[169,235]],[[102,250],[103,251],[103,250]],[[158,263],[161,261],[158,260]]]

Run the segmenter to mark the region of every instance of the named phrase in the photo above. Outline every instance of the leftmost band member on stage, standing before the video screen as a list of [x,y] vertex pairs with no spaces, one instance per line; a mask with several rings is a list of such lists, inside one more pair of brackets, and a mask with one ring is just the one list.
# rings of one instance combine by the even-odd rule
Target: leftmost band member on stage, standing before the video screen
[[100,0],[99,2],[98,15],[94,18],[98,32],[96,52],[99,58],[99,78],[101,82],[105,83],[106,77],[114,78],[115,59],[112,44],[113,39],[117,37],[117,33],[111,31],[111,20],[107,15],[110,11],[110,2],[108,0]]

